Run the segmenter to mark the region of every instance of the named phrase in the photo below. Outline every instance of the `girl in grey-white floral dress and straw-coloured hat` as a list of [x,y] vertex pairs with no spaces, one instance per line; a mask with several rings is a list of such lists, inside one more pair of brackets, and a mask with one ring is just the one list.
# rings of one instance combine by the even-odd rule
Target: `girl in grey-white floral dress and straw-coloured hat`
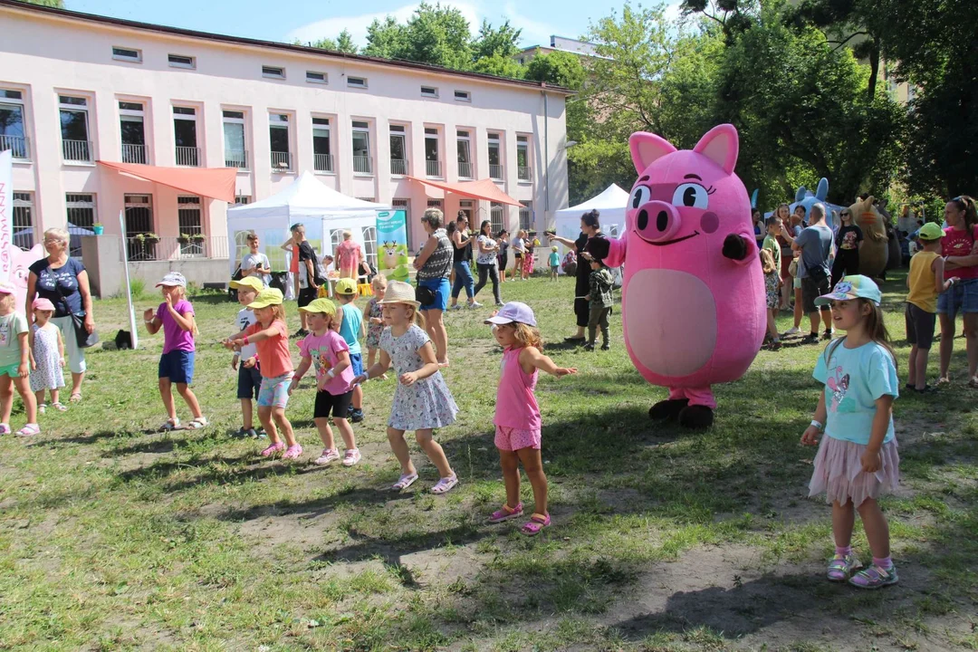
[[389,325],[380,335],[380,360],[366,373],[354,378],[353,382],[376,378],[393,363],[397,373],[397,389],[394,390],[394,403],[387,421],[387,441],[401,464],[401,477],[391,489],[407,489],[418,479],[418,471],[404,441],[404,432],[414,430],[418,445],[438,468],[440,480],[431,488],[431,493],[445,494],[459,484],[459,478],[441,446],[432,439],[431,431],[454,423],[459,408],[438,370],[431,340],[415,324],[416,320],[421,319],[418,312],[421,304],[415,300],[414,287],[391,281],[387,284],[380,306]]

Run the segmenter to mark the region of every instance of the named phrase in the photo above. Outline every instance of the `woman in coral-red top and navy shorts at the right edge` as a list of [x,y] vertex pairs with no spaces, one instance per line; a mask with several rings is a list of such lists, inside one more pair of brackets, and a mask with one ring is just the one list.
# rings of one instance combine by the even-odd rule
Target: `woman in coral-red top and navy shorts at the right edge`
[[951,382],[949,368],[955,348],[955,316],[964,316],[964,337],[968,352],[968,387],[978,388],[978,211],[975,200],[956,196],[944,206],[948,228],[941,239],[945,274],[959,283],[937,297],[941,323],[941,373],[938,385]]

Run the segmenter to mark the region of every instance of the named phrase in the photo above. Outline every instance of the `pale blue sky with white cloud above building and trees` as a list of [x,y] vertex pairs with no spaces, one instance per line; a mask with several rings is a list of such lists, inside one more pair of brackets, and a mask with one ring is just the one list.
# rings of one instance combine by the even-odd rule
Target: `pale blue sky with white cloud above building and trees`
[[[366,43],[367,26],[392,15],[404,22],[418,7],[411,0],[66,0],[67,9],[130,21],[269,41],[314,41],[335,37],[344,27],[358,46]],[[433,4],[433,2],[432,2]],[[551,34],[578,38],[591,22],[620,12],[621,0],[448,0],[476,31],[483,19],[494,25],[509,19],[522,29],[521,45],[548,45]]]

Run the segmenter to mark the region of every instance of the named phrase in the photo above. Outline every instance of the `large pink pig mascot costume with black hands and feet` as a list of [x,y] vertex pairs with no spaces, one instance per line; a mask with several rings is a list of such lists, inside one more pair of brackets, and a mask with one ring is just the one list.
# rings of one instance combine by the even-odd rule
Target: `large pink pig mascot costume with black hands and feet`
[[714,127],[691,152],[647,133],[629,147],[639,180],[624,235],[605,240],[605,262],[625,265],[625,344],[645,379],[669,388],[648,415],[706,428],[710,386],[744,374],[766,327],[750,199],[733,174],[736,129]]

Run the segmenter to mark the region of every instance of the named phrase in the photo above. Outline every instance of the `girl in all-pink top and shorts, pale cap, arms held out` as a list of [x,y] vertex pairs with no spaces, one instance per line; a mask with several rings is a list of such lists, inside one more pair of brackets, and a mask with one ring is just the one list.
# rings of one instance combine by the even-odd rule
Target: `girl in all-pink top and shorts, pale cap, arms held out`
[[485,322],[493,325],[493,335],[503,347],[503,369],[496,392],[496,448],[499,449],[506,483],[506,503],[489,517],[502,523],[523,515],[519,501],[519,463],[533,487],[535,511],[523,525],[522,533],[533,536],[550,525],[547,511],[547,476],[540,458],[540,407],[533,394],[537,370],[561,377],[577,369],[557,367],[541,353],[543,341],[537,330],[533,310],[525,303],[511,301]]

